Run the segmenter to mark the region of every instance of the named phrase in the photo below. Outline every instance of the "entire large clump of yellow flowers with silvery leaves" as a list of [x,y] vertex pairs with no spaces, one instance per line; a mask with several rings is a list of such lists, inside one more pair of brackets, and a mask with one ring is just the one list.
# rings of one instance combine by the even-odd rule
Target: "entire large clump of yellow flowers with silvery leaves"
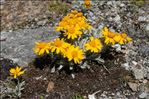
[[[87,1],[88,2],[88,1]],[[104,27],[101,32],[95,32],[82,12],[71,11],[56,26],[60,32],[58,38],[49,42],[36,42],[34,52],[37,55],[48,54],[55,66],[86,68],[94,60],[103,62],[101,52],[107,46],[124,45],[132,41],[126,33],[117,33]],[[101,34],[102,36],[94,37]]]

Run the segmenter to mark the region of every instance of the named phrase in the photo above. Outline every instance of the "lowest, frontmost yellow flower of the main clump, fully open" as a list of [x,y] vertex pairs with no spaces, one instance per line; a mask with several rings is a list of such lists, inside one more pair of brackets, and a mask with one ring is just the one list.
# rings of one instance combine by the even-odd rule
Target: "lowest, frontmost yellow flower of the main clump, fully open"
[[84,52],[78,47],[70,46],[65,53],[68,61],[74,61],[75,64],[79,64],[85,57]]

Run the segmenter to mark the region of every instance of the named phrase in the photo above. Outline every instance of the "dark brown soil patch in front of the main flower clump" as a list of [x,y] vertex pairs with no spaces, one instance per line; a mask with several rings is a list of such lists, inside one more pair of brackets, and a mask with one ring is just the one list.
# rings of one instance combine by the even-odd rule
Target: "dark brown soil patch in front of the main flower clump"
[[[44,67],[37,68],[34,63],[30,64],[23,75],[26,85],[22,99],[39,99],[42,96],[44,99],[71,99],[75,94],[85,97],[98,90],[111,92],[127,90],[129,88],[125,85],[124,78],[131,73],[120,67],[124,62],[123,56],[122,53],[112,53],[104,57],[106,59],[104,65],[110,73],[102,65],[92,63],[91,69],[79,70],[74,73],[75,78],[68,75],[66,71],[49,73],[48,64],[50,62],[44,61],[49,57],[40,59],[41,62],[37,58],[39,66]],[[49,82],[54,83],[54,88],[47,93]]]

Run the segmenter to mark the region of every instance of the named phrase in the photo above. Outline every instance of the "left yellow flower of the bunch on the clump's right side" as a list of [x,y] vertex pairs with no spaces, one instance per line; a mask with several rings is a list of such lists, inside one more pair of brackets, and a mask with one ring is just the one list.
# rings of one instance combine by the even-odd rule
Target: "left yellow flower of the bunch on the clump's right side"
[[114,40],[114,37],[117,35],[117,33],[114,33],[114,32],[111,32],[109,31],[109,29],[107,27],[105,27],[103,30],[102,30],[102,34],[103,34],[103,37],[105,38],[105,41],[104,43],[105,44],[115,44],[115,40]]

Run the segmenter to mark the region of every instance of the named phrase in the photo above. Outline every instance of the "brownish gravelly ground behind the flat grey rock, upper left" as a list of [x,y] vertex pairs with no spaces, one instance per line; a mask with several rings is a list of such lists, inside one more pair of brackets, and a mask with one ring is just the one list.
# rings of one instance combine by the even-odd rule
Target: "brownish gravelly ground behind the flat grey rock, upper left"
[[66,12],[69,3],[59,1],[1,0],[1,30],[17,30],[52,25]]

